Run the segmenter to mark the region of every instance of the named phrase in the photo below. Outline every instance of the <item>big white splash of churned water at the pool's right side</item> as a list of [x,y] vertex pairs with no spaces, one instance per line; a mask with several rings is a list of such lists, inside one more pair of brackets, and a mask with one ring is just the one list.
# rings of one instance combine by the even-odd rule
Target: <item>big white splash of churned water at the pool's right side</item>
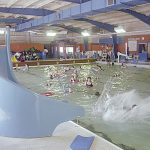
[[[110,97],[105,93],[94,107],[94,114],[106,121],[150,123],[150,97],[142,99],[135,90]],[[103,98],[103,99],[101,99]]]

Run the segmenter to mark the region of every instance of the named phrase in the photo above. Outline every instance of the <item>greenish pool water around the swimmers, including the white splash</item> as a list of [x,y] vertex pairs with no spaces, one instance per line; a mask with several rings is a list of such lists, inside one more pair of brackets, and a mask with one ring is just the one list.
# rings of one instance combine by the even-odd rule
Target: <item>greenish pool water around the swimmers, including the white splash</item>
[[[75,71],[79,82],[71,83]],[[102,65],[101,70],[95,64],[82,64],[36,67],[14,73],[21,84],[36,93],[50,91],[57,100],[83,106],[86,114],[78,119],[83,127],[123,149],[149,150],[150,70],[107,65]],[[55,75],[53,79],[51,74]],[[88,76],[92,78],[92,88],[85,86]],[[101,95],[96,96],[96,92]]]

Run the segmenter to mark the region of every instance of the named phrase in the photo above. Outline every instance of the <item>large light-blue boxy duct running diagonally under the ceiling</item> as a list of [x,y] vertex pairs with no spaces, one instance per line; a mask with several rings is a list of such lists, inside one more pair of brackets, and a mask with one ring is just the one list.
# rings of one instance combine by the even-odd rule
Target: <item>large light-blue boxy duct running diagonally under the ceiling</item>
[[[128,3],[134,2],[135,6],[147,3],[146,1],[143,0],[126,0],[126,3],[127,2]],[[45,24],[59,23],[63,20],[80,18],[80,16],[96,15],[99,13],[106,13],[115,10],[117,11],[120,9],[124,9],[126,7],[127,6],[121,4],[120,2],[111,7],[110,6],[107,7],[104,1],[92,0],[91,2],[71,6],[70,8],[59,10],[45,17],[38,18],[24,24],[20,24],[16,27],[16,31],[30,30],[31,28],[36,28],[39,26],[43,26]]]

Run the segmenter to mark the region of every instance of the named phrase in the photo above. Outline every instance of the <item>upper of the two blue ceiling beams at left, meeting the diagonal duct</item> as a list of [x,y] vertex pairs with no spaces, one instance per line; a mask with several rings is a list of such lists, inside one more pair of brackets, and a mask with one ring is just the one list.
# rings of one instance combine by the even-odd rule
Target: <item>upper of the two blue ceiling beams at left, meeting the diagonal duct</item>
[[32,15],[32,16],[46,16],[54,13],[54,11],[48,9],[40,8],[8,8],[0,7],[0,12],[11,13],[11,14],[21,14],[21,15]]

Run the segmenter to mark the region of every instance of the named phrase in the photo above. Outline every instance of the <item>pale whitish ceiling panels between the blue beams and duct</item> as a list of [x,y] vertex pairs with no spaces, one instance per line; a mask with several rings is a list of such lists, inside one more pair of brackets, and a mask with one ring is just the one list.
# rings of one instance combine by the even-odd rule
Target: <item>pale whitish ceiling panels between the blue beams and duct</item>
[[[78,5],[77,3],[72,2],[65,2],[62,0],[0,0],[0,7],[9,7],[9,8],[40,8],[40,9],[47,9],[51,11],[60,11],[65,8],[70,8],[74,5]],[[135,6],[132,10],[145,14],[146,16],[150,16],[150,3]],[[12,13],[0,13],[0,19],[5,18],[21,18],[26,20],[30,19],[37,19],[41,16],[35,15],[23,15],[23,14],[12,14]],[[150,25],[140,21],[139,19],[120,11],[111,11],[107,13],[100,13],[97,15],[90,15],[87,16],[88,19],[109,23],[111,25],[121,25],[125,28],[127,32],[134,32],[134,31],[143,31],[143,34],[150,34]],[[76,20],[66,20],[61,22],[61,24],[65,26],[77,27],[83,30],[93,31],[96,27],[90,23],[84,21],[76,21]],[[4,28],[8,23],[0,23],[0,28]],[[12,27],[16,26],[16,23],[11,23]],[[43,27],[36,28],[32,30],[32,32],[11,32],[11,41],[12,42],[35,42],[35,43],[49,43],[50,41],[54,40],[54,38],[46,37],[45,33],[49,30],[55,30],[60,33],[63,28],[45,25]],[[96,33],[100,32],[103,34],[109,34],[108,31],[102,30],[97,28],[94,30]],[[57,35],[57,38],[67,38],[67,37],[75,37],[79,36],[79,34],[68,32],[68,35],[62,35],[61,33]],[[96,34],[93,33],[93,34]],[[4,44],[4,37],[0,38],[0,44]]]

